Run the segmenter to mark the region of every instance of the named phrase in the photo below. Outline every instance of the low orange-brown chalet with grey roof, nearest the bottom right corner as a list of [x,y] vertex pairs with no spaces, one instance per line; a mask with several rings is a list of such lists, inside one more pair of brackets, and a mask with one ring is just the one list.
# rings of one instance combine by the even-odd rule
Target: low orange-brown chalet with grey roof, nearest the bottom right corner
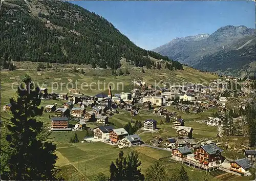
[[246,175],[250,172],[250,163],[249,161],[244,158],[244,159],[239,159],[233,162],[230,162],[230,168],[229,170],[238,172],[241,175]]

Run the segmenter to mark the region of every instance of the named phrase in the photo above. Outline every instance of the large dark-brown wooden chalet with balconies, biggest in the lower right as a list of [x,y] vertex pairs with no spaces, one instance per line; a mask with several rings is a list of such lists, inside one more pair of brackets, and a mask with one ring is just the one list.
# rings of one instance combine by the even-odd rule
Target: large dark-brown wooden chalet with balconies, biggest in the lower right
[[204,145],[194,150],[195,159],[200,164],[208,167],[215,167],[221,164],[221,152],[223,150],[219,148],[215,143]]

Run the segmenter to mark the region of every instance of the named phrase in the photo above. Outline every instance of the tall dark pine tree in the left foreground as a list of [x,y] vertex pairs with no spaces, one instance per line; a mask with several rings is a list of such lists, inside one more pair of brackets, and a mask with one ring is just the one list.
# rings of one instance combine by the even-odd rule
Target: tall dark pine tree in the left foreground
[[[7,125],[7,145],[2,147],[1,178],[9,180],[55,180],[57,156],[56,146],[48,142],[49,134],[44,131],[41,116],[43,107],[38,108],[41,100],[39,87],[31,84],[26,75],[23,85],[17,88],[17,98],[10,99],[12,118]],[[1,145],[3,146],[3,145]]]

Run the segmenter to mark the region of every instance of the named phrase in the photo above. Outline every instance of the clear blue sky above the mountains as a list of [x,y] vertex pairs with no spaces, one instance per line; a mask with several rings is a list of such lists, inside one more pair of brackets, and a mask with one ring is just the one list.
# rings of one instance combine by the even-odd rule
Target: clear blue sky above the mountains
[[73,1],[108,19],[137,46],[152,50],[176,37],[218,28],[255,28],[253,1]]

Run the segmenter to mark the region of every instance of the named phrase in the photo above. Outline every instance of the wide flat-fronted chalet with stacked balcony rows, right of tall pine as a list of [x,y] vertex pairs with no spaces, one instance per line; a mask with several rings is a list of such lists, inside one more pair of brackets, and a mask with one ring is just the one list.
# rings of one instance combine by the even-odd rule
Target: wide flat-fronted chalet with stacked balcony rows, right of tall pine
[[71,128],[69,128],[69,118],[51,117],[51,130],[52,131],[71,130]]

